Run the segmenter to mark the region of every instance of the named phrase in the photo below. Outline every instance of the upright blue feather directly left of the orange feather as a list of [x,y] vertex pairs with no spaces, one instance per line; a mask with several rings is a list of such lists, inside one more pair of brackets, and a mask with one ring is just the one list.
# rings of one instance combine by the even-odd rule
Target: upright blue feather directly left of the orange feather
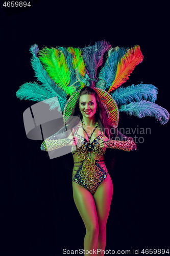
[[123,47],[115,47],[108,51],[107,60],[99,73],[99,81],[96,83],[96,87],[106,90],[112,85],[116,76],[118,62],[127,50]]

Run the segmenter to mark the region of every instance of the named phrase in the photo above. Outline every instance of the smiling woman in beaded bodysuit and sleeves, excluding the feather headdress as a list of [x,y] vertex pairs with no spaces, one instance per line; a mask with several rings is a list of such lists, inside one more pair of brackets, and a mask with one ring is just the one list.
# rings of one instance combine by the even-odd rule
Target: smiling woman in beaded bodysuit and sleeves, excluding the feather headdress
[[80,91],[71,115],[80,117],[81,122],[69,124],[69,127],[76,128],[67,138],[59,139],[58,135],[53,135],[46,139],[41,150],[51,151],[72,145],[72,189],[75,204],[86,227],[85,255],[93,255],[96,249],[101,249],[98,255],[103,255],[113,195],[113,184],[104,163],[106,147],[133,151],[136,150],[136,144],[113,129],[98,94],[90,87]]

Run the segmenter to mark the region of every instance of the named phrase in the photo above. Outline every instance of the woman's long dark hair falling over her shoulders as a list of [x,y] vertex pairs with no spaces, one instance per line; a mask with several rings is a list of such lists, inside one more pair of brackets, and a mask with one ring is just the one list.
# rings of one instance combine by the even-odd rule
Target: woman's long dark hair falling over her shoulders
[[104,132],[104,134],[110,139],[113,136],[113,134],[111,133],[113,127],[111,126],[111,124],[107,118],[106,110],[99,98],[99,95],[90,87],[84,87],[80,91],[80,94],[77,98],[74,109],[72,110],[70,120],[68,119],[68,121],[67,121],[67,123],[69,123],[69,127],[76,126],[79,123],[79,121],[73,121],[74,119],[71,118],[72,116],[79,117],[81,119],[81,121],[83,119],[82,113],[80,112],[80,109],[79,109],[79,101],[80,101],[80,96],[85,95],[85,94],[95,96],[96,103],[98,106],[98,111],[96,111],[96,113],[95,113],[95,120],[98,122],[101,132]]

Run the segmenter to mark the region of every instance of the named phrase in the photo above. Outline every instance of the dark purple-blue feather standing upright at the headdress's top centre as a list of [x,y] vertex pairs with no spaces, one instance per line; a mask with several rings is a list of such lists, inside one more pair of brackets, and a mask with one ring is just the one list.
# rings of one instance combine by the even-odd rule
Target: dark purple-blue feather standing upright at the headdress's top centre
[[82,49],[83,60],[86,65],[90,81],[90,87],[94,87],[96,80],[96,71],[103,63],[103,55],[110,49],[111,45],[105,40],[97,41],[93,46],[88,46]]

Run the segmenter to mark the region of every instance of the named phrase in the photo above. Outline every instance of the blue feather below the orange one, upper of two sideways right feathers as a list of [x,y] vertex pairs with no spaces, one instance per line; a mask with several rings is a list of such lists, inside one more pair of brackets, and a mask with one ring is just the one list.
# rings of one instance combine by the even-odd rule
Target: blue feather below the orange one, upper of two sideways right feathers
[[137,84],[136,86],[120,87],[111,93],[111,96],[116,101],[117,105],[128,104],[132,101],[140,101],[142,99],[155,102],[158,94],[158,89],[152,84]]

